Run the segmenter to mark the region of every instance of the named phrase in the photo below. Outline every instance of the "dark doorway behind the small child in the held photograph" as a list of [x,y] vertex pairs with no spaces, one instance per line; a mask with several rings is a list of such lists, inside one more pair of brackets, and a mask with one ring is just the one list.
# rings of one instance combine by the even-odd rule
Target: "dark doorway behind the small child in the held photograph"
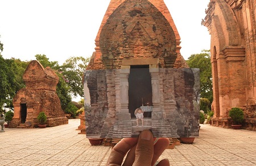
[[[131,118],[134,111],[141,106],[152,106],[152,85],[148,65],[131,65],[129,74],[129,112]],[[151,112],[144,113],[151,117]]]

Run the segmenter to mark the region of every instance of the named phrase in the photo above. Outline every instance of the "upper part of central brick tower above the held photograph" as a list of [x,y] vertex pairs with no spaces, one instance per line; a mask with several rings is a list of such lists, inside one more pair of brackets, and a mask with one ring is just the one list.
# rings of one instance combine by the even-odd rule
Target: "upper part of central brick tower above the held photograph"
[[144,57],[158,57],[160,67],[188,67],[163,1],[110,1],[95,44],[87,69],[121,68],[122,59]]

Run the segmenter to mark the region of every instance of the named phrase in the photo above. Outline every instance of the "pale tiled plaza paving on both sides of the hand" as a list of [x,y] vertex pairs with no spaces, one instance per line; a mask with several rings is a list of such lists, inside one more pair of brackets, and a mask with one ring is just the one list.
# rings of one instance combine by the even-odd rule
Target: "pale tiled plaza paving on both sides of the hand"
[[[79,119],[47,128],[4,128],[0,165],[105,165],[110,147],[90,146]],[[201,124],[193,144],[164,151],[171,165],[256,165],[256,132]]]

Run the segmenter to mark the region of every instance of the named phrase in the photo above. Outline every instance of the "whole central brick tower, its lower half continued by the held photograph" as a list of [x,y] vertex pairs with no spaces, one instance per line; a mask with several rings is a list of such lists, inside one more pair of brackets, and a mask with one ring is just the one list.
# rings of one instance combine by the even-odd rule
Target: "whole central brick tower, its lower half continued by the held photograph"
[[[180,55],[180,36],[163,0],[110,1],[95,44],[84,74],[86,136],[123,138],[152,128],[155,136],[178,137],[184,122],[198,135],[193,90],[199,86]],[[141,128],[134,123],[138,107],[150,112]]]

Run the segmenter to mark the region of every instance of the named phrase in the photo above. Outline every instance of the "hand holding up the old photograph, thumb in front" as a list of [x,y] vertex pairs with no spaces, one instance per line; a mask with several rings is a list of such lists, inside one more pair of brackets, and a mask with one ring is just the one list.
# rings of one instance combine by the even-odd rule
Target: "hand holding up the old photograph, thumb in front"
[[[116,144],[106,165],[122,165],[123,158],[128,151],[123,165],[154,165],[169,143],[168,138],[159,138],[154,144],[151,131],[144,130],[138,138],[124,138]],[[168,166],[170,163],[167,159],[163,159],[157,165]]]

